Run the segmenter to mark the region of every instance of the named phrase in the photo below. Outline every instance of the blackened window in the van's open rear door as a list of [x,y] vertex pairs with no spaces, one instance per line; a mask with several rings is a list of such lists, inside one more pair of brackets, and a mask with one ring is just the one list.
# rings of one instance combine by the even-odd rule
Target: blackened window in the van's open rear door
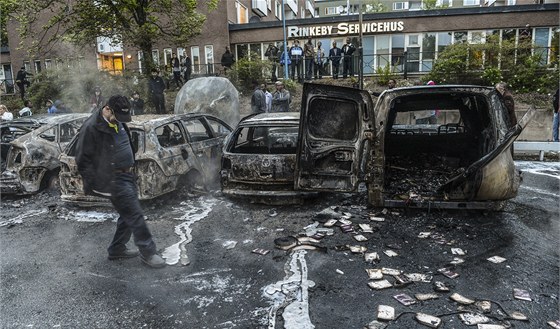
[[308,129],[315,138],[354,140],[359,121],[354,102],[315,97],[309,104]]

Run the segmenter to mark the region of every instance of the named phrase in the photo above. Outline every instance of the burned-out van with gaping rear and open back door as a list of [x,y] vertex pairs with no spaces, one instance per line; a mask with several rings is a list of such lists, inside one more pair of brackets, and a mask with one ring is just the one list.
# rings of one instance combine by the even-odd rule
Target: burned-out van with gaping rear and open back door
[[490,87],[396,88],[374,105],[366,91],[305,84],[289,189],[357,192],[361,185],[378,207],[497,209],[517,195],[511,148],[533,114],[509,126]]

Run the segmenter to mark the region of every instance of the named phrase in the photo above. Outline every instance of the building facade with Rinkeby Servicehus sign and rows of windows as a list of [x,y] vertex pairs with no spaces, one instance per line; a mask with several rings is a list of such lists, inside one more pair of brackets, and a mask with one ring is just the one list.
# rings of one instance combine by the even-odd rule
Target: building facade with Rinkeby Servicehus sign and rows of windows
[[[500,6],[506,0],[496,0],[491,6],[481,6],[479,2],[478,5],[458,8],[456,1],[464,4],[473,0],[449,1],[452,4],[444,9],[411,10],[409,3],[409,9],[405,11],[364,14],[361,25],[364,74],[375,74],[376,70],[388,65],[397,73],[427,73],[446,46],[457,42],[483,43],[491,35],[516,42],[530,38],[534,51],[545,52],[543,65],[557,61],[558,3]],[[321,41],[327,53],[333,42],[341,46],[347,38],[358,45],[359,15],[323,15],[323,9],[318,8],[326,8],[321,7],[325,3],[333,5],[337,1],[221,1],[216,10],[207,13],[201,34],[189,44],[160,42],[151,56],[164,69],[169,67],[173,53],[178,57],[188,54],[193,76],[197,76],[223,72],[219,63],[226,46],[231,47],[236,59],[245,56],[265,59],[269,43],[283,48],[284,32],[290,45],[293,40],[311,38],[314,43]],[[16,29],[15,22],[8,23],[9,42],[1,48],[3,93],[13,92],[15,72],[21,66],[31,73],[53,67],[79,67],[86,63],[117,74],[125,70],[144,70],[143,54],[138,49],[112,45],[105,39],[96,40],[95,46],[79,49],[61,43],[30,58],[25,50],[18,49],[21,40]],[[405,56],[406,60],[403,60]],[[278,72],[278,76],[283,77],[283,72]]]

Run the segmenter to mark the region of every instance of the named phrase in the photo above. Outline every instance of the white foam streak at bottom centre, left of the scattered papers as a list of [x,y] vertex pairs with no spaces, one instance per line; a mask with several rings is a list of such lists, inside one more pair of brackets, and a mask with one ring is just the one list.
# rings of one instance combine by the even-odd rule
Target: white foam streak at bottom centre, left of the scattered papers
[[307,279],[307,263],[305,250],[297,250],[291,254],[291,259],[284,265],[286,277],[282,281],[268,285],[263,289],[263,295],[271,299],[268,310],[268,329],[274,329],[276,314],[284,308],[282,318],[285,329],[312,329],[315,326],[309,317],[309,287],[315,282]]

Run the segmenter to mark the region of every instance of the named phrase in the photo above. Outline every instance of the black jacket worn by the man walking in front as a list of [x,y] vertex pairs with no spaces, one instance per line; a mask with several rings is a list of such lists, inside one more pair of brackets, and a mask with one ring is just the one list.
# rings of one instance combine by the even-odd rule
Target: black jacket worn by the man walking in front
[[[130,141],[130,130],[122,124]],[[84,182],[84,193],[96,195],[93,190],[109,193],[113,179],[112,152],[115,148],[114,130],[95,111],[82,125],[76,145],[76,165]],[[132,143],[130,147],[133,148]],[[134,154],[134,149],[133,149]]]

